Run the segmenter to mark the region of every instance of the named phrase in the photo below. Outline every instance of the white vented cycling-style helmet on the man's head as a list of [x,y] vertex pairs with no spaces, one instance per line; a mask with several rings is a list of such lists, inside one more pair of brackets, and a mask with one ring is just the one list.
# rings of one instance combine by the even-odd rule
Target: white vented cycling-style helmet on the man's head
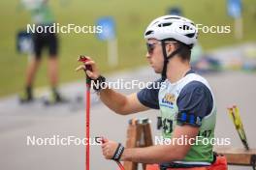
[[178,15],[164,15],[154,19],[144,32],[144,39],[175,39],[189,46],[197,42],[198,30],[193,21]]

